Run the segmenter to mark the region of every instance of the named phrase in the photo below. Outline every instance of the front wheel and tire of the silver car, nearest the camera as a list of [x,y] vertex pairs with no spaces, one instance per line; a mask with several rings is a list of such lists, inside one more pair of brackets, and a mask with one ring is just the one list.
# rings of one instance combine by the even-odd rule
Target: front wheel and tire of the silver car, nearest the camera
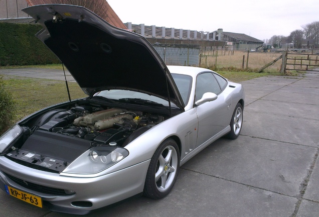
[[143,194],[153,199],[168,195],[180,168],[180,151],[173,139],[166,139],[150,160]]

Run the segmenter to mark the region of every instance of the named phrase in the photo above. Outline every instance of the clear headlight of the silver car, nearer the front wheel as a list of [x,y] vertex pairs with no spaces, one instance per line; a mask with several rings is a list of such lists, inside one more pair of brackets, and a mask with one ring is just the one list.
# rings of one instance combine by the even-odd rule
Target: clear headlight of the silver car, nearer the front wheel
[[118,147],[94,147],[74,160],[64,173],[94,174],[116,164],[128,155],[128,151]]

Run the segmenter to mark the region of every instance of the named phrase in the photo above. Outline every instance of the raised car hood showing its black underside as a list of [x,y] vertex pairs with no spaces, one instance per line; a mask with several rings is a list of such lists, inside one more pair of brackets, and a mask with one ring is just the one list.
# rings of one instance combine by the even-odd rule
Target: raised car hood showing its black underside
[[166,64],[141,35],[116,28],[80,6],[37,5],[23,11],[44,27],[36,36],[87,94],[135,90],[184,108]]

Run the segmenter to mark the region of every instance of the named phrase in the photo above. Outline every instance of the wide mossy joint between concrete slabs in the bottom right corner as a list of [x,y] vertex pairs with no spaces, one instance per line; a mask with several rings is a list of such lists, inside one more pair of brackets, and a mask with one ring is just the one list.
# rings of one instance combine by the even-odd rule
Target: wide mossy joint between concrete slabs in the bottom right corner
[[[313,157],[313,161],[309,167],[309,169],[307,170],[307,175],[306,177],[303,179],[303,181],[301,181],[300,183],[300,192],[299,192],[299,195],[297,195],[297,199],[298,201],[296,202],[296,205],[295,205],[295,209],[294,209],[294,212],[292,213],[291,217],[295,217],[297,216],[297,213],[299,211],[299,207],[301,205],[301,202],[302,202],[302,199],[303,199],[303,196],[305,194],[305,191],[307,189],[307,186],[308,186],[308,183],[310,181],[310,177],[311,177],[311,173],[313,171],[313,168],[314,168],[314,165],[315,165],[315,162],[317,161],[318,159],[318,154],[319,154],[319,149],[317,148],[317,151],[316,153],[314,154],[314,157]],[[316,201],[317,203],[319,203],[319,201]]]

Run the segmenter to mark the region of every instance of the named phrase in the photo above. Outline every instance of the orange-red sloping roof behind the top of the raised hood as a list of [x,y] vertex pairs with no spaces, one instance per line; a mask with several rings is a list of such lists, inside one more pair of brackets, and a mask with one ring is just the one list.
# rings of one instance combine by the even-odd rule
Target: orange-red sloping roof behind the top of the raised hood
[[26,0],[29,6],[43,5],[43,4],[65,4],[83,6],[90,11],[97,14],[106,22],[121,29],[127,29],[123,22],[119,19],[117,14],[113,11],[111,6],[105,0],[95,1],[72,1],[72,0]]

